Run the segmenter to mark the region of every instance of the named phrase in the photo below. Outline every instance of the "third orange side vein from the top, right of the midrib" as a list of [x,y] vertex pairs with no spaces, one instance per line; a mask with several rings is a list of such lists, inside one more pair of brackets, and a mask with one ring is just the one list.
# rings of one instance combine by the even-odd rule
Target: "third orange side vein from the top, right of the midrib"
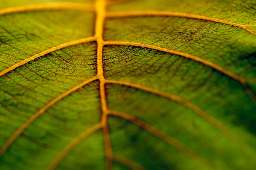
[[222,123],[220,123],[217,119],[212,117],[211,115],[207,114],[203,110],[201,110],[198,106],[190,103],[189,101],[184,100],[183,98],[180,98],[179,96],[175,96],[173,94],[169,94],[157,89],[153,89],[151,87],[146,87],[143,85],[135,84],[135,83],[130,83],[130,82],[125,82],[125,81],[115,81],[115,80],[106,80],[106,83],[113,83],[113,84],[119,84],[119,85],[125,85],[137,89],[144,90],[146,92],[150,92],[153,94],[157,94],[159,96],[163,96],[165,98],[169,98],[170,100],[176,101],[177,103],[180,103],[189,109],[193,110],[195,113],[197,113],[199,116],[201,116],[203,119],[211,123],[215,128],[220,130],[223,134],[227,135],[232,141],[237,143],[239,146],[242,144],[240,143],[239,139],[229,130],[227,129]]

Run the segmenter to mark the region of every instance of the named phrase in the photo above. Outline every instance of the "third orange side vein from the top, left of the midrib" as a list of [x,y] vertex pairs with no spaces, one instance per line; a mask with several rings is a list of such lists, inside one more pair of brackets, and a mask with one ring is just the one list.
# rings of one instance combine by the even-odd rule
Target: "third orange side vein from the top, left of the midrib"
[[69,89],[68,91],[64,92],[60,96],[54,98],[52,101],[47,103],[47,105],[45,105],[43,108],[38,110],[38,112],[36,112],[23,125],[21,125],[20,128],[18,130],[16,130],[16,132],[14,132],[14,134],[7,140],[7,142],[4,143],[4,145],[0,149],[0,157],[7,151],[7,149],[10,147],[10,145],[18,138],[18,136],[20,136],[20,134],[22,132],[24,132],[24,130],[27,129],[27,127],[29,125],[31,125],[31,123],[33,123],[41,114],[43,114],[47,109],[49,109],[49,107],[51,107],[52,105],[54,105],[55,103],[57,103],[61,99],[65,98],[69,94],[71,94],[71,93],[75,92],[76,90],[80,89],[81,87],[85,86],[86,84],[97,80],[97,78],[98,78],[97,76],[94,76],[93,78],[90,78],[87,81],[84,81],[83,83]]

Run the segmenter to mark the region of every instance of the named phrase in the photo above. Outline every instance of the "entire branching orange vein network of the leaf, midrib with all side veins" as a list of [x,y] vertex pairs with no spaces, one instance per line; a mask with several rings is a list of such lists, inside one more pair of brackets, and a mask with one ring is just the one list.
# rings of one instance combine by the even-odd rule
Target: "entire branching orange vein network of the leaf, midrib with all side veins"
[[[108,130],[108,115],[112,116],[119,116],[122,117],[128,121],[131,121],[134,124],[137,124],[144,128],[145,130],[148,130],[149,132],[155,134],[159,138],[163,139],[170,145],[173,145],[175,148],[180,150],[181,152],[184,152],[187,154],[189,157],[192,157],[194,159],[197,159],[198,161],[204,162],[207,166],[210,166],[208,161],[202,159],[195,151],[191,150],[190,148],[186,147],[184,144],[180,143],[180,141],[177,141],[176,139],[172,138],[171,136],[168,136],[167,134],[164,134],[160,130],[155,129],[154,127],[144,123],[143,121],[139,119],[135,119],[134,117],[126,114],[126,113],[121,113],[113,110],[109,110],[107,106],[107,101],[106,101],[106,89],[105,89],[105,84],[106,83],[114,83],[114,84],[121,84],[121,85],[126,85],[138,89],[142,89],[151,93],[158,94],[160,96],[167,97],[171,100],[177,101],[178,103],[185,105],[186,107],[189,107],[191,110],[197,112],[200,116],[202,116],[204,119],[206,119],[209,123],[213,124],[216,128],[218,128],[220,131],[222,131],[224,134],[229,136],[230,139],[232,139],[234,142],[238,143],[240,145],[240,141],[237,139],[237,137],[232,134],[227,128],[225,128],[224,125],[222,125],[220,122],[218,122],[216,119],[211,117],[209,114],[205,113],[202,111],[199,107],[189,103],[188,101],[185,101],[182,98],[179,98],[177,96],[174,96],[172,94],[168,94],[165,92],[161,92],[156,89],[152,89],[150,87],[144,87],[141,85],[136,85],[133,83],[129,82],[120,82],[120,81],[112,81],[112,80],[107,80],[104,75],[103,75],[103,46],[104,45],[134,45],[138,47],[147,47],[151,49],[157,49],[160,51],[166,51],[169,53],[173,53],[176,55],[184,56],[186,58],[190,58],[192,60],[196,60],[200,63],[203,63],[204,65],[208,65],[209,67],[212,67],[219,72],[222,72],[223,74],[226,74],[227,76],[234,78],[236,81],[239,81],[243,87],[245,88],[245,91],[249,94],[249,96],[256,101],[254,94],[249,90],[249,88],[246,85],[245,79],[241,78],[224,68],[214,65],[214,63],[208,62],[206,60],[203,60],[199,57],[196,56],[191,56],[189,54],[185,54],[182,52],[178,51],[173,51],[169,49],[164,49],[161,47],[155,47],[152,45],[144,45],[144,44],[139,44],[139,43],[133,43],[133,42],[111,42],[111,41],[104,41],[103,40],[103,25],[106,17],[112,18],[112,17],[128,17],[128,16],[180,16],[180,17],[186,17],[186,18],[197,18],[197,19],[202,19],[202,20],[209,20],[213,22],[221,22],[224,24],[229,24],[233,25],[236,27],[241,27],[250,33],[256,35],[255,32],[251,31],[247,27],[254,27],[254,26],[243,26],[243,25],[238,25],[232,22],[227,22],[223,20],[218,20],[214,18],[208,18],[208,17],[203,17],[203,16],[196,16],[192,14],[184,14],[184,13],[171,13],[171,12],[158,12],[158,11],[144,11],[144,12],[117,12],[117,13],[106,13],[106,5],[107,5],[107,0],[97,0],[95,3],[94,7],[88,6],[88,5],[82,5],[81,4],[39,4],[39,5],[33,5],[33,6],[26,6],[26,7],[17,7],[17,8],[11,8],[11,9],[4,9],[0,10],[0,15],[2,14],[7,14],[7,13],[13,13],[13,12],[21,12],[21,11],[32,11],[32,10],[42,10],[42,9],[81,9],[81,10],[95,10],[96,11],[96,23],[95,23],[95,35],[89,38],[84,38],[82,40],[77,40],[74,42],[68,42],[63,45],[59,45],[57,47],[53,47],[52,49],[48,49],[46,51],[41,52],[40,54],[36,54],[35,56],[32,56],[31,58],[28,58],[20,63],[17,63],[16,65],[13,65],[9,67],[8,69],[4,70],[3,72],[0,72],[0,76],[3,76],[4,74],[7,74],[8,72],[12,71],[13,69],[19,67],[20,65],[24,65],[28,63],[31,60],[34,60],[35,58],[44,56],[45,54],[48,54],[50,52],[56,51],[58,49],[70,46],[70,45],[75,45],[75,44],[80,44],[84,42],[92,42],[96,41],[97,42],[97,75],[93,78],[90,78],[87,81],[84,81],[80,85],[77,85],[76,87],[73,87],[72,89],[68,90],[67,92],[61,94],[60,96],[56,97],[54,100],[49,102],[45,107],[40,109],[37,113],[35,113],[31,118],[25,122],[10,138],[9,140],[3,145],[3,147],[0,149],[0,157],[4,154],[4,152],[7,151],[9,146],[20,136],[24,130],[31,125],[32,122],[34,122],[41,114],[43,114],[49,107],[54,105],[56,102],[60,101],[61,99],[65,98],[67,95],[71,94],[72,92],[75,92],[77,89],[87,85],[88,83],[91,83],[92,81],[99,80],[99,92],[100,92],[100,101],[101,101],[101,122],[97,125],[94,125],[92,128],[89,130],[86,130],[83,132],[80,136],[78,136],[74,141],[72,141],[69,145],[67,145],[66,148],[61,151],[56,159],[52,161],[52,163],[48,166],[48,170],[54,169],[58,166],[58,164],[62,161],[62,159],[83,139],[85,139],[87,136],[92,134],[93,132],[96,132],[97,130],[102,129],[103,130],[103,135],[104,135],[104,143],[105,143],[105,152],[106,152],[106,169],[111,170],[112,169],[112,161],[113,160],[119,160],[120,162],[126,163],[128,166],[130,165],[131,167],[139,167],[136,163],[133,163],[131,161],[128,161],[127,159],[117,157],[113,154],[112,152],[112,146],[110,142],[110,135],[109,135],[109,130]],[[130,162],[130,163],[129,163]]]

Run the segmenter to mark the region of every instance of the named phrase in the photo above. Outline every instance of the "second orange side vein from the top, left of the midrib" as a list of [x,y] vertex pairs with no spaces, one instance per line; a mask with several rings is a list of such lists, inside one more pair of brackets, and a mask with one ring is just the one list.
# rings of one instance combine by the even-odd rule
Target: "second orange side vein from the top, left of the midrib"
[[51,49],[47,49],[43,52],[40,52],[34,56],[31,56],[23,61],[21,61],[20,63],[17,63],[7,69],[5,69],[4,71],[0,72],[0,76],[4,75],[4,74],[7,74],[8,72],[12,71],[13,69],[16,69],[17,67],[20,67],[21,65],[24,65],[26,63],[28,63],[29,61],[32,61],[38,57],[42,57],[44,56],[45,54],[48,54],[50,52],[54,52],[58,49],[62,49],[64,47],[68,47],[68,46],[71,46],[71,45],[77,45],[77,44],[81,44],[81,43],[84,43],[84,42],[91,42],[91,41],[94,41],[96,40],[96,38],[93,36],[93,37],[89,37],[89,38],[83,38],[83,39],[80,39],[80,40],[75,40],[75,41],[72,41],[72,42],[67,42],[67,43],[64,43],[64,44],[61,44],[61,45],[58,45],[56,47],[53,47]]

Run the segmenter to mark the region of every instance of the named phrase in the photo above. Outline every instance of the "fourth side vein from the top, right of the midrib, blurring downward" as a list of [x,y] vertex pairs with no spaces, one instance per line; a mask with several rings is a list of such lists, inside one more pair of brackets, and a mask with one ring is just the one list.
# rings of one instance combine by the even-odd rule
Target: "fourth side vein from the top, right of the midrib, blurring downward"
[[108,114],[124,118],[124,119],[126,119],[126,120],[128,120],[128,121],[130,121],[130,122],[132,122],[136,125],[139,125],[141,128],[147,130],[148,132],[150,132],[150,133],[154,134],[155,136],[159,137],[160,139],[166,141],[168,144],[172,145],[177,150],[180,150],[181,152],[183,152],[187,156],[204,163],[208,167],[211,167],[211,164],[207,160],[204,160],[202,157],[200,157],[200,155],[198,155],[194,150],[187,147],[186,145],[184,145],[183,143],[181,143],[177,139],[173,138],[172,136],[169,136],[168,134],[165,134],[164,132],[158,130],[157,128],[149,125],[148,123],[145,123],[144,121],[141,121],[141,120],[139,120],[139,119],[137,119],[133,116],[130,116],[129,114],[126,114],[124,112],[117,112],[115,110],[110,110]]

